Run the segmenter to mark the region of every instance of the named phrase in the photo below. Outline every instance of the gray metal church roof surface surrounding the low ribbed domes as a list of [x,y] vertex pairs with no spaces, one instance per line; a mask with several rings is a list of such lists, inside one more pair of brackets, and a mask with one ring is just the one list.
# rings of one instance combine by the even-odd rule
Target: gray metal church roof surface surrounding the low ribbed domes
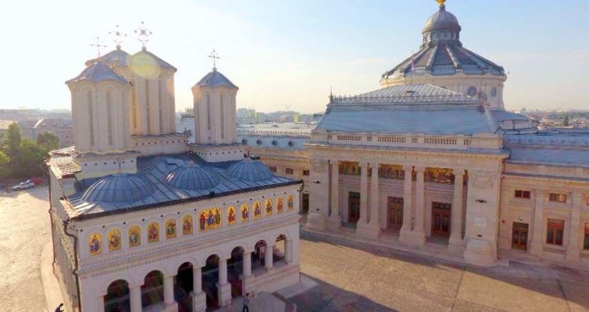
[[[174,187],[173,185],[169,185],[169,183],[165,182],[166,177],[169,176],[170,173],[174,172],[174,170],[178,169],[179,167],[185,167],[190,161],[201,167],[207,167],[207,170],[214,171],[214,174],[216,174],[218,177],[219,183],[214,187],[206,189],[191,189]],[[255,160],[249,161],[256,162],[259,165],[264,166]],[[206,163],[202,158],[199,158],[194,154],[140,157],[137,158],[138,172],[136,174],[129,174],[128,176],[139,178],[141,179],[142,183],[143,181],[147,183],[147,185],[144,185],[143,187],[143,189],[149,190],[149,194],[147,194],[147,196],[132,196],[132,198],[124,198],[123,201],[116,202],[104,200],[104,197],[95,198],[93,201],[88,201],[87,196],[85,196],[86,191],[92,189],[92,186],[96,184],[96,181],[101,180],[101,178],[87,178],[84,180],[79,180],[79,183],[76,183],[76,187],[79,188],[78,192],[68,196],[68,200],[70,200],[72,206],[79,216],[90,216],[107,213],[108,211],[134,208],[139,209],[148,205],[174,204],[174,202],[190,200],[191,198],[198,200],[198,198],[205,198],[205,196],[208,196],[211,191],[214,191],[217,196],[223,196],[223,194],[234,194],[238,192],[251,191],[253,189],[277,187],[280,185],[291,185],[298,183],[298,181],[291,178],[274,176],[273,174],[271,174],[271,176],[265,176],[266,179],[264,180],[244,180],[235,178],[227,171],[227,168],[234,163],[236,162]],[[136,179],[134,179],[134,181],[136,181]],[[128,184],[132,185],[132,183]],[[207,186],[208,185],[205,185],[205,187]],[[113,188],[108,187],[107,189],[104,189],[104,191],[110,191],[111,189]],[[127,187],[127,189],[134,188]],[[118,194],[112,194],[112,196],[119,198]]]

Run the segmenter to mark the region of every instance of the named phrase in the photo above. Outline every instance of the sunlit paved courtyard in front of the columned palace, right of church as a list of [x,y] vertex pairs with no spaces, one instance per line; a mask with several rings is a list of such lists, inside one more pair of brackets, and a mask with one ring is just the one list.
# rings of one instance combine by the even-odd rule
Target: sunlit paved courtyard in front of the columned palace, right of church
[[301,231],[298,311],[589,311],[589,272],[480,268]]

